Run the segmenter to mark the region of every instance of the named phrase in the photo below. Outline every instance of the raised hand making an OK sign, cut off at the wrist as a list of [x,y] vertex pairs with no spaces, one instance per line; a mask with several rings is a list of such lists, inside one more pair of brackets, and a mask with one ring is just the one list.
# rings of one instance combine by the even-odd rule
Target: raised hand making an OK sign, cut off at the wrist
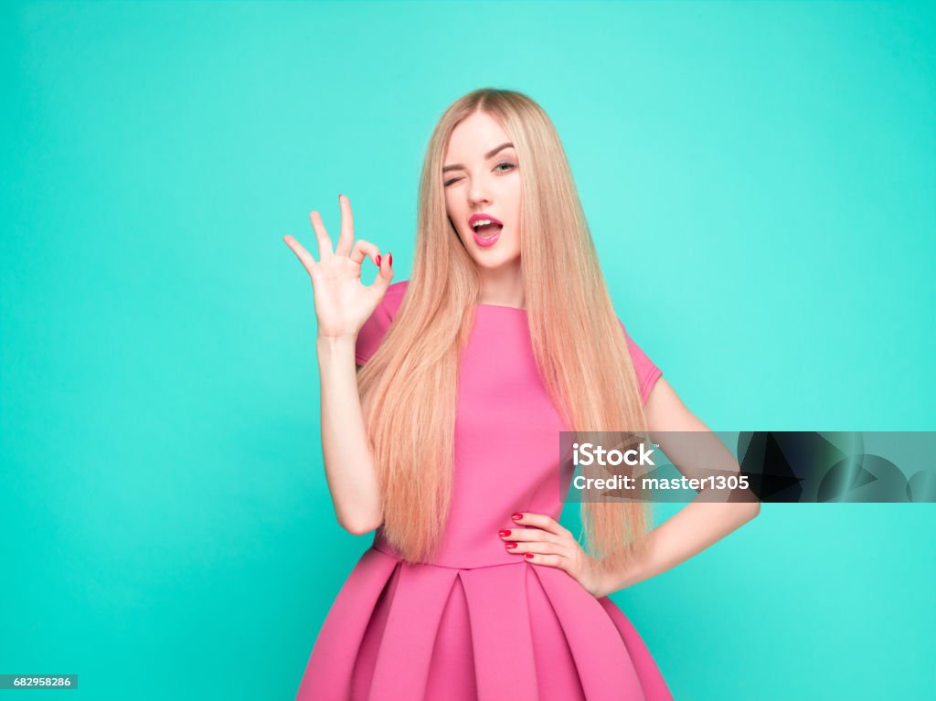
[[[358,330],[373,314],[393,280],[392,256],[380,256],[380,249],[370,241],[354,240],[354,219],[351,203],[344,195],[338,196],[342,209],[342,233],[338,245],[332,250],[331,239],[318,212],[309,219],[318,241],[320,260],[315,260],[292,236],[283,241],[299,257],[312,278],[315,317],[320,337],[338,338],[357,336]],[[370,257],[380,270],[371,285],[360,282],[360,267]],[[379,260],[379,262],[378,262]]]

